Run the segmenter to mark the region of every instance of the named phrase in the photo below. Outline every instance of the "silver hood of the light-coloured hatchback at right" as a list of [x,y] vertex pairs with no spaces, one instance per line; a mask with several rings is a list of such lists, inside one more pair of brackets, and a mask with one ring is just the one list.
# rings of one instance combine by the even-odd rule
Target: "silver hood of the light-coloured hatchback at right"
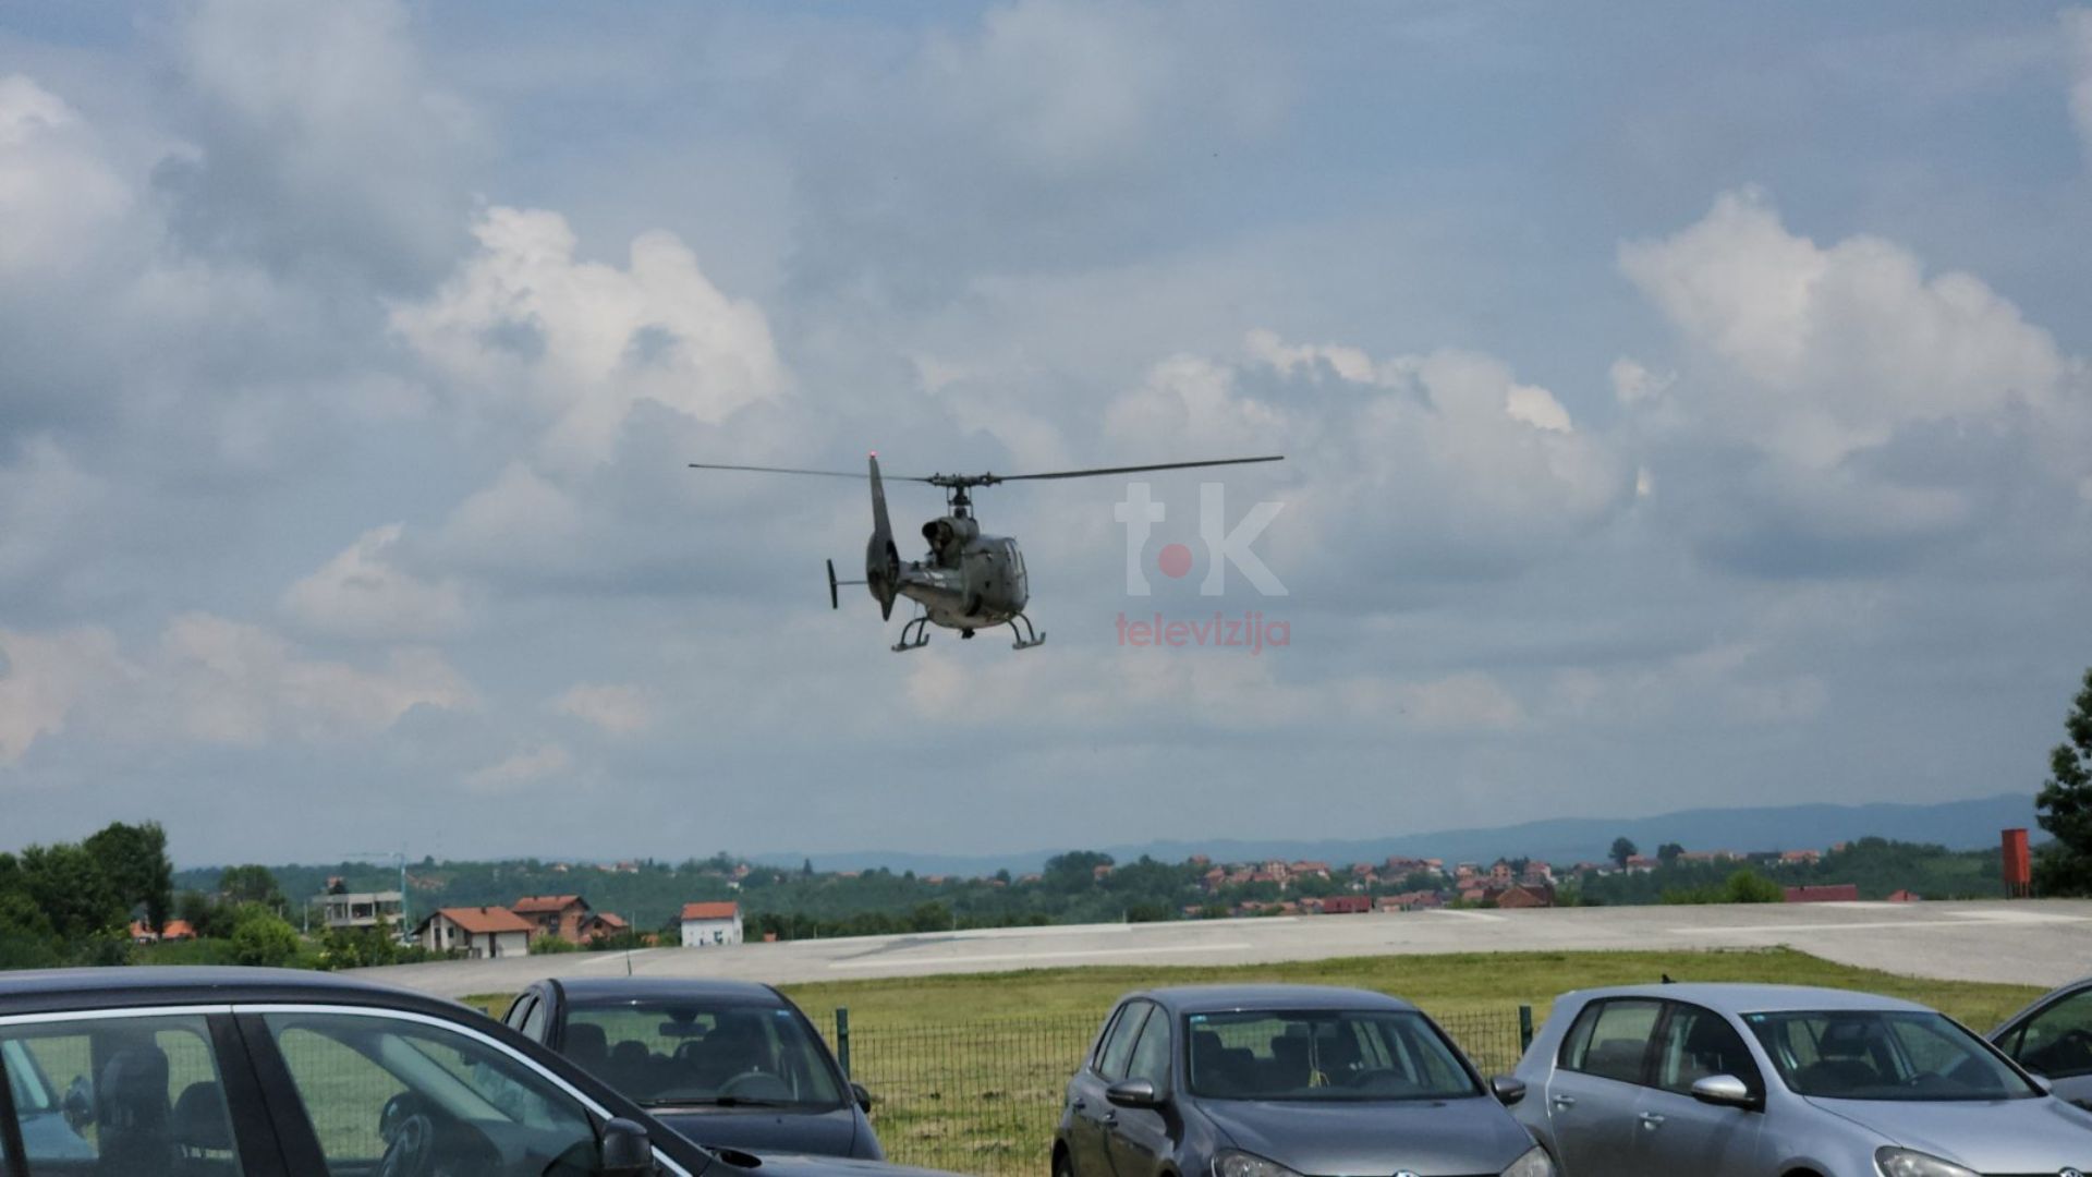
[[1810,1104],[1881,1133],[1900,1148],[1929,1152],[1977,1173],[2092,1171],[2092,1112],[2063,1100],[1887,1102],[1822,1100]]

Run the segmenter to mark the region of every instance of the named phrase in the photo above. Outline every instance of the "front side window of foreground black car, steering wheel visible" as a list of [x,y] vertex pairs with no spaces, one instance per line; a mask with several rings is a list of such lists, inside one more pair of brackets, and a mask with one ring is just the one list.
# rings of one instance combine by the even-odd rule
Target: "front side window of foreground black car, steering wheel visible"
[[588,1110],[456,1028],[362,1014],[264,1014],[331,1177],[596,1169]]

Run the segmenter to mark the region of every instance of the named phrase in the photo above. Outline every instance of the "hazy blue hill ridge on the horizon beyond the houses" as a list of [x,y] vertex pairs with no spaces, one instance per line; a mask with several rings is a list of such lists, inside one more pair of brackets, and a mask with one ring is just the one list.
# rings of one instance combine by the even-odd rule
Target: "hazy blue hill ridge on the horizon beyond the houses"
[[[1207,854],[1220,863],[1257,859],[1320,859],[1324,863],[1379,863],[1383,859],[1431,857],[1458,861],[1494,861],[1498,857],[1529,857],[1548,863],[1602,861],[1613,838],[1632,838],[1644,854],[1655,854],[1663,842],[1686,850],[1805,850],[1858,838],[1889,838],[1895,842],[1939,844],[1950,850],[1979,850],[1998,844],[1998,831],[2008,827],[2036,829],[2033,798],[2002,794],[1981,800],[1941,804],[1795,804],[1766,808],[1690,808],[1661,817],[1561,817],[1525,821],[1496,829],[1441,829],[1433,834],[1393,834],[1362,840],[1167,840],[1138,846],[1102,846],[1119,863],[1142,854],[1165,863],[1190,854]],[[1090,848],[1090,846],[1084,846]],[[757,863],[797,867],[812,859],[822,871],[862,871],[889,867],[937,875],[985,875],[998,869],[1017,873],[1040,869],[1059,850],[1017,854],[914,854],[900,850],[860,850],[837,854],[776,852],[757,854]]]

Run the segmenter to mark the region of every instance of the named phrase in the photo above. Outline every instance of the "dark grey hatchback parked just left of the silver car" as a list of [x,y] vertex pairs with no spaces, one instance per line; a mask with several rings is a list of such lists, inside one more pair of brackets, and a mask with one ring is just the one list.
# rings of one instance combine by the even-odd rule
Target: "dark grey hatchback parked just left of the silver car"
[[1358,989],[1266,984],[1119,999],[1067,1083],[1052,1173],[1554,1169],[1414,1005]]

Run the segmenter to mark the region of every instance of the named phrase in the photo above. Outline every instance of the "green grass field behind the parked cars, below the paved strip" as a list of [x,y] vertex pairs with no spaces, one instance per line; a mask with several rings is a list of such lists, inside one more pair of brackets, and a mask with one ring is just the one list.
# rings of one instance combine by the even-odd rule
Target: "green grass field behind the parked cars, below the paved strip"
[[[872,1089],[872,1123],[893,1160],[960,1173],[1046,1171],[1061,1089],[1111,1003],[1130,989],[1310,982],[1393,993],[1439,1018],[1485,1072],[1517,1062],[1519,1007],[1546,1020],[1573,989],[1749,980],[1860,989],[1923,1001],[1977,1030],[2040,991],[1923,980],[1837,965],[1789,949],[1676,953],[1464,953],[1351,957],[1238,968],[1061,968],[1010,974],[780,986],[831,1035],[849,1009],[851,1076]],[[500,1016],[508,995],[467,999]]]

